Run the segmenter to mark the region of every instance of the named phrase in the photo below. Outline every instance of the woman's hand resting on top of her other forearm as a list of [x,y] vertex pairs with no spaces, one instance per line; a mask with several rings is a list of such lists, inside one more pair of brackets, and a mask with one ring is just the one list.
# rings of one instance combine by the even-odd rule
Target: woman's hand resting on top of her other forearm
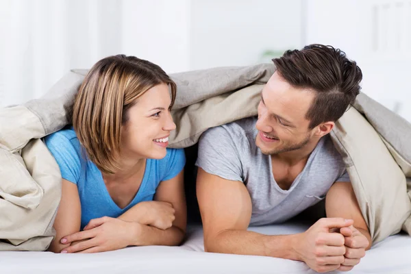
[[119,216],[123,221],[137,221],[158,229],[168,229],[175,220],[175,209],[165,201],[142,201]]

